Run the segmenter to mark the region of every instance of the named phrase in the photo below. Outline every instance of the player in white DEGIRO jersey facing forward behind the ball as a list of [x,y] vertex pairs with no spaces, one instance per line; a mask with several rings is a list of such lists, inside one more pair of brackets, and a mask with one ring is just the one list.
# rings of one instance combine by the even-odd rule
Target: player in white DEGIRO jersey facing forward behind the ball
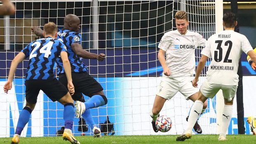
[[[193,102],[198,97],[199,89],[193,87],[191,83],[195,73],[195,48],[204,47],[206,40],[199,33],[187,30],[189,21],[186,12],[176,12],[175,24],[177,30],[165,33],[158,46],[160,48],[158,59],[164,72],[150,111],[154,132],[158,132],[155,121],[167,99],[173,98],[178,91],[184,95],[185,99]],[[206,108],[207,102],[204,102],[204,107],[199,114],[204,113]],[[198,123],[195,123],[194,131],[202,133]]]

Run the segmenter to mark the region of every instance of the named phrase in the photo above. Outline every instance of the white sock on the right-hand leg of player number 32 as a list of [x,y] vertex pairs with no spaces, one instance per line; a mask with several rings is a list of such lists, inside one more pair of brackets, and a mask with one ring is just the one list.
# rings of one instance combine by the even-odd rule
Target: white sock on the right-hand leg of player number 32
[[224,105],[223,114],[222,114],[222,123],[221,123],[221,132],[220,135],[226,137],[228,126],[233,113],[232,105]]

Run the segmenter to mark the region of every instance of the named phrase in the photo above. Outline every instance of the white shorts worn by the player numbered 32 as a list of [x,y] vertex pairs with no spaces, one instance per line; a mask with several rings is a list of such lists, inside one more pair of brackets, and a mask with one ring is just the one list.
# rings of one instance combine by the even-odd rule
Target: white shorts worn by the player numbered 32
[[237,93],[237,85],[219,85],[219,84],[211,84],[206,79],[204,83],[200,87],[201,93],[204,97],[213,98],[219,90],[222,90],[223,97],[231,101],[235,94]]

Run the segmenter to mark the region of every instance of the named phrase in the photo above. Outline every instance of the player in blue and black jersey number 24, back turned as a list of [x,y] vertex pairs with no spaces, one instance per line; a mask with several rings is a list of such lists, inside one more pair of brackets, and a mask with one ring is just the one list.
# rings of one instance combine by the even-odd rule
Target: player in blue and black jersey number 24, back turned
[[[63,139],[70,141],[72,144],[80,144],[72,135],[71,131],[75,116],[71,94],[75,91],[66,46],[63,42],[56,39],[57,26],[53,22],[45,24],[43,35],[45,38],[31,42],[13,59],[8,80],[4,85],[4,91],[7,93],[12,88],[12,81],[18,64],[28,57],[29,63],[25,81],[26,106],[19,115],[17,128],[11,144],[19,143],[19,137],[36,106],[40,90],[52,99],[53,102],[58,101],[64,105],[63,118],[65,121],[65,130],[62,136]],[[56,58],[59,56],[62,58],[66,72],[66,86],[60,83],[53,74],[53,66]]]

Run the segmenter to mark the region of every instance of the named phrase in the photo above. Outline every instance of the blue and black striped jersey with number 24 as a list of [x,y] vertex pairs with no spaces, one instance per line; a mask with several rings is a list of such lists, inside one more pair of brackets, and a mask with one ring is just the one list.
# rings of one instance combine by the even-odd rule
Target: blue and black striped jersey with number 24
[[28,44],[21,52],[29,57],[26,80],[54,79],[53,66],[60,53],[66,52],[66,46],[60,40],[47,37]]

